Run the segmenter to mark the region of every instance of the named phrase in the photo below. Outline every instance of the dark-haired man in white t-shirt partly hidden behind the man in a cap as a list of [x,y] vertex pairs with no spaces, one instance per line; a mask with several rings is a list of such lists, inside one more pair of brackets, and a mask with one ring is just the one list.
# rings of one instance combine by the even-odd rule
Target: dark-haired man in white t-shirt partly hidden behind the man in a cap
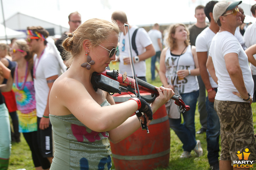
[[204,7],[204,13],[209,19],[210,26],[204,29],[196,38],[196,52],[200,75],[208,92],[206,98],[207,110],[207,157],[212,170],[219,170],[219,134],[220,123],[217,112],[214,110],[214,97],[216,95],[218,85],[210,77],[206,68],[208,52],[212,38],[219,31],[219,26],[213,19],[213,7],[218,1],[209,1]]

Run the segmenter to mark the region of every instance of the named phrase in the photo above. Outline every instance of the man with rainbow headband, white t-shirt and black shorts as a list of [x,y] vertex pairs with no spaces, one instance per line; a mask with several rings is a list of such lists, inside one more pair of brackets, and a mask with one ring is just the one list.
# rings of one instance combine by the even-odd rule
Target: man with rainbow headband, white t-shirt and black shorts
[[[49,48],[49,33],[42,27],[27,28],[27,44],[34,52],[33,79],[36,96],[39,147],[43,157],[48,158],[49,165],[53,159],[52,125],[49,120],[49,92],[53,82],[61,74],[61,62]],[[55,47],[56,48],[56,47]],[[63,62],[63,61],[62,61]]]

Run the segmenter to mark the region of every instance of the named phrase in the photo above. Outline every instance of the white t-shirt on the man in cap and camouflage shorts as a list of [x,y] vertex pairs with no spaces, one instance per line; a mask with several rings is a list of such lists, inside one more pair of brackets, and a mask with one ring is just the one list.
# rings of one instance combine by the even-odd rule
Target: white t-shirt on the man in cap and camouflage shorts
[[218,32],[212,39],[210,45],[209,56],[212,57],[215,74],[218,78],[218,92],[215,96],[216,100],[220,101],[234,101],[234,102],[248,102],[244,101],[233,92],[236,90],[232,80],[230,79],[224,56],[228,53],[237,53],[239,65],[242,70],[245,87],[250,95],[253,95],[254,81],[252,79],[251,69],[247,55],[239,43],[238,39],[228,31]]

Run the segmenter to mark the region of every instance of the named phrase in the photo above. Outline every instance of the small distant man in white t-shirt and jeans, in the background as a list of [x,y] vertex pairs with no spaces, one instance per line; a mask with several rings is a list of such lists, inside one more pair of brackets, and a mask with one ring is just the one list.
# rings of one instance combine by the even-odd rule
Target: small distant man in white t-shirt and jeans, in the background
[[157,58],[160,58],[162,51],[162,33],[159,31],[159,24],[155,23],[153,28],[149,30],[148,34],[156,51],[156,55],[151,57],[151,80],[155,80],[155,69],[157,69],[155,67],[155,62]]

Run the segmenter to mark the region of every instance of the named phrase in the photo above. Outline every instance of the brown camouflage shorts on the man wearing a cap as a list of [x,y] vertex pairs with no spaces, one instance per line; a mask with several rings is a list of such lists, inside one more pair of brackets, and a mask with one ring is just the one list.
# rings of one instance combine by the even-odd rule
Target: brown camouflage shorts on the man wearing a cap
[[220,160],[231,160],[233,166],[233,160],[239,160],[237,154],[246,152],[246,148],[250,152],[248,160],[255,160],[256,143],[250,104],[215,100],[214,109],[220,120]]

